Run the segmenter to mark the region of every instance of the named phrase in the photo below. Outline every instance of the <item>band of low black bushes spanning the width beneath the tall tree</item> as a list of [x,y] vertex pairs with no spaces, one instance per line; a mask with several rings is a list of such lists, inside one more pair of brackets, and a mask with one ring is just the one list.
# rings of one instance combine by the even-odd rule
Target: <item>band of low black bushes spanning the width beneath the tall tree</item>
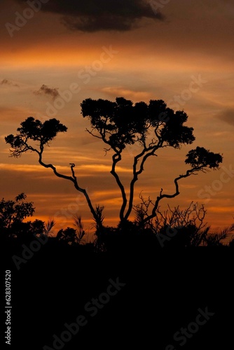
[[[148,210],[147,204],[142,203],[135,207],[134,221],[120,221],[116,227],[104,226],[104,207],[99,207],[101,228],[96,225],[92,240],[89,241],[84,229],[81,216],[74,215],[74,228],[62,228],[55,232],[56,223],[52,219],[48,222],[36,219],[26,221],[33,216],[35,208],[33,202],[26,202],[27,195],[20,193],[15,200],[0,202],[0,232],[1,239],[6,242],[30,242],[35,237],[45,235],[47,241],[63,246],[86,246],[94,252],[119,252],[131,251],[134,248],[153,249],[162,248],[188,248],[188,247],[233,247],[234,224],[224,228],[220,232],[210,233],[211,226],[205,223],[205,207],[198,207],[198,203],[189,205],[181,210],[178,207],[167,211],[157,211],[157,215],[151,221],[144,223],[144,216]],[[50,243],[52,244],[52,243]]]

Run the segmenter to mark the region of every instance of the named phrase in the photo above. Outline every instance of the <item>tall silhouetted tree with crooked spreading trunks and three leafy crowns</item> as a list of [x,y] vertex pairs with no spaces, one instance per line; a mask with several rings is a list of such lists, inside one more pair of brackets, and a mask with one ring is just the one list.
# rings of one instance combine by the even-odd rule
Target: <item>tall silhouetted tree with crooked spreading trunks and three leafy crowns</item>
[[[87,130],[93,137],[102,139],[107,148],[106,152],[112,151],[111,174],[121,191],[122,204],[119,213],[121,223],[126,223],[133,208],[135,194],[135,183],[144,171],[144,165],[148,158],[156,156],[160,148],[172,147],[181,148],[183,144],[192,144],[195,140],[193,127],[187,127],[188,116],[184,111],[173,111],[167,107],[163,100],[151,100],[149,104],[139,102],[133,104],[123,97],[116,98],[116,102],[98,99],[85,99],[81,103],[83,117],[90,120],[91,130]],[[27,151],[35,152],[39,156],[39,163],[46,168],[53,170],[54,174],[62,179],[74,183],[76,190],[83,193],[88,207],[96,222],[97,231],[103,225],[103,207],[92,206],[90,197],[84,188],[78,185],[74,172],[74,163],[70,163],[71,176],[60,174],[52,164],[43,162],[43,151],[59,132],[67,132],[67,127],[55,118],[41,123],[33,117],[27,118],[18,128],[18,134],[5,137],[6,143],[11,145],[11,155],[20,157]],[[153,133],[153,137],[150,135]],[[33,144],[32,144],[33,143]],[[121,182],[116,165],[122,160],[122,153],[126,146],[136,144],[139,146],[139,153],[135,155],[132,162],[132,179],[130,181],[129,197],[126,195],[125,187]],[[156,216],[158,204],[163,198],[172,198],[179,195],[178,181],[198,172],[205,172],[209,169],[218,169],[222,162],[219,153],[212,153],[202,147],[197,147],[186,155],[186,164],[189,169],[185,174],[174,179],[175,191],[172,194],[163,193],[156,198],[151,214],[144,218],[144,221],[151,221]]]

